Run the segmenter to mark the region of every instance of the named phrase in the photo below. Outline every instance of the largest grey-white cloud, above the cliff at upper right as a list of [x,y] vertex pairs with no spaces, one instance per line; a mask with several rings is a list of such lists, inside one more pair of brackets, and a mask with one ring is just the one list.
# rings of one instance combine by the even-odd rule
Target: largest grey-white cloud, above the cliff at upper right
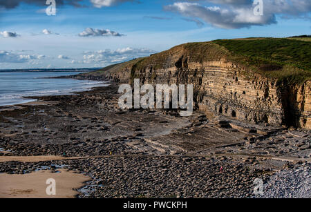
[[[245,28],[276,23],[276,15],[305,17],[310,15],[310,0],[265,0],[263,15],[254,14],[252,0],[206,0],[214,6],[200,3],[176,2],[164,10],[177,12],[184,17],[201,19],[218,28]],[[205,1],[205,2],[206,2]]]

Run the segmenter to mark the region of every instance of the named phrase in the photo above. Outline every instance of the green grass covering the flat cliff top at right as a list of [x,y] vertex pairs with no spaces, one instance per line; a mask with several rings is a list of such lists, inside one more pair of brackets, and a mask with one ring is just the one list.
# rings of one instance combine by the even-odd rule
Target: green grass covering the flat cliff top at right
[[311,80],[311,43],[309,38],[249,38],[216,40],[229,50],[233,61],[252,68],[265,77],[289,83]]

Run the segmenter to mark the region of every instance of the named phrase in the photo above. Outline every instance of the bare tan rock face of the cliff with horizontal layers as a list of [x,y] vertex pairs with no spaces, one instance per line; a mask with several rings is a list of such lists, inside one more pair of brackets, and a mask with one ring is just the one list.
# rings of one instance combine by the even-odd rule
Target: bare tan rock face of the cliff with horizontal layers
[[140,79],[151,84],[194,84],[200,110],[248,122],[311,128],[310,81],[283,87],[261,76],[249,79],[243,70],[227,61],[209,61],[155,70],[156,74],[142,71]]

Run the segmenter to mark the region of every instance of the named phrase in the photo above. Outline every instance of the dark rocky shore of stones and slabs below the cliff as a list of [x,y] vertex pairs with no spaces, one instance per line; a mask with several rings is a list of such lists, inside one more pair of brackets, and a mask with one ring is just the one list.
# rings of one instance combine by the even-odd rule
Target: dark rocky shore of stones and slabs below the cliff
[[[120,111],[119,96],[111,84],[34,97],[53,104],[0,110],[0,157],[66,157],[0,162],[0,173],[66,168],[91,177],[77,197],[288,197],[282,189],[255,195],[254,180],[272,188],[279,171],[290,176],[301,167],[310,177],[310,130],[198,111],[191,117],[175,110]],[[288,184],[294,197],[299,182]],[[310,197],[310,185],[303,191],[299,197]]]

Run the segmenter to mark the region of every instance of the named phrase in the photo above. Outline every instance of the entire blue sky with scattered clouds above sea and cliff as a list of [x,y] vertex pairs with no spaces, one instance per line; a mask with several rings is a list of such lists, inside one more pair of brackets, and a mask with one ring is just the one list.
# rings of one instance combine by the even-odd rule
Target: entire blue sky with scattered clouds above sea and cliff
[[293,35],[311,35],[310,0],[0,0],[0,69],[100,68],[188,42]]

